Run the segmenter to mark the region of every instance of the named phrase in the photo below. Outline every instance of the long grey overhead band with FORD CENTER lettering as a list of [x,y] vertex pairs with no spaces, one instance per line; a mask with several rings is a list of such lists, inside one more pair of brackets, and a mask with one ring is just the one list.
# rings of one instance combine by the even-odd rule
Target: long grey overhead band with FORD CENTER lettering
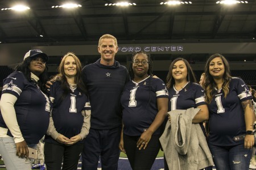
[[[256,54],[255,42],[220,43],[166,43],[166,44],[118,44],[117,55],[132,54],[140,50],[152,54]],[[67,52],[77,55],[98,55],[98,45],[33,46],[49,56],[61,56]]]

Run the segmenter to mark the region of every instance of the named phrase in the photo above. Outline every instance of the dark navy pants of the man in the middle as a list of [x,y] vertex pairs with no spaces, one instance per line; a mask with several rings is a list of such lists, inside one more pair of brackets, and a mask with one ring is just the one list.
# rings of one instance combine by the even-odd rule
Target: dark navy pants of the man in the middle
[[82,169],[97,170],[101,156],[102,170],[115,170],[120,155],[121,128],[110,130],[90,129],[82,151]]

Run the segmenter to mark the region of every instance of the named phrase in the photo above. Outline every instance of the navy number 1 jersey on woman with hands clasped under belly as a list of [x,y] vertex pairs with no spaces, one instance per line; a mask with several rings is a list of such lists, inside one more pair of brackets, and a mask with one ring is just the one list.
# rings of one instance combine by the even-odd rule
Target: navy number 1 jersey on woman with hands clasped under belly
[[[49,91],[52,104],[52,120],[58,133],[71,138],[81,132],[84,122],[84,116],[81,112],[90,110],[89,99],[77,88],[74,88],[63,100],[61,100],[62,94],[61,82],[54,82]],[[48,135],[46,135],[45,141],[49,143],[56,142]]]

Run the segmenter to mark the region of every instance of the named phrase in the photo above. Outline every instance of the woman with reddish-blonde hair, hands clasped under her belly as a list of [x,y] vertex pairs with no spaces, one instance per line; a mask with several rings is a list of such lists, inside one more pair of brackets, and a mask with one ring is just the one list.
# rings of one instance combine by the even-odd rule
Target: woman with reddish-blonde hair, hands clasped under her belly
[[48,170],[77,169],[90,128],[90,103],[81,79],[81,63],[73,53],[60,62],[59,74],[49,89],[52,104],[49,128],[44,139]]

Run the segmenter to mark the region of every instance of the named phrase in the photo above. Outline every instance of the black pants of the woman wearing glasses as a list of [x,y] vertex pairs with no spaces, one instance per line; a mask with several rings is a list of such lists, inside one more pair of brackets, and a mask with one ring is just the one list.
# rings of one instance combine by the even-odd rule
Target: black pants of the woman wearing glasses
[[160,135],[152,135],[146,149],[142,148],[141,150],[137,147],[139,137],[131,137],[123,134],[123,143],[127,158],[133,170],[150,170],[160,149]]

